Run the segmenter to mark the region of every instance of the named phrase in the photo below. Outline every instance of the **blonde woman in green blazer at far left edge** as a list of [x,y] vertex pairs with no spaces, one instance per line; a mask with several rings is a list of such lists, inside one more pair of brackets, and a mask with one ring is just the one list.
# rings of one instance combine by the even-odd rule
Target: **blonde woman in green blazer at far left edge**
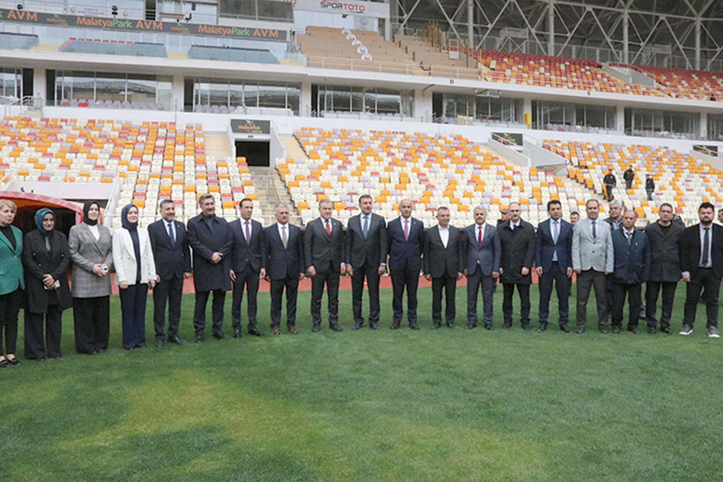
[[[20,365],[15,357],[17,312],[22,305],[22,231],[12,225],[17,206],[0,199],[0,368]],[[3,344],[4,340],[4,344]]]

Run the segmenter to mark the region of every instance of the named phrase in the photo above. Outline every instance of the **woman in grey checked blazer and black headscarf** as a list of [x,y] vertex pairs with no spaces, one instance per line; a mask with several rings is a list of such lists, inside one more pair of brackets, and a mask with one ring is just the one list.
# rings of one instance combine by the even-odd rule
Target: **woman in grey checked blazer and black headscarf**
[[73,262],[73,321],[75,350],[95,353],[108,348],[108,327],[113,265],[111,230],[98,223],[100,205],[83,206],[82,223],[70,228],[68,245]]

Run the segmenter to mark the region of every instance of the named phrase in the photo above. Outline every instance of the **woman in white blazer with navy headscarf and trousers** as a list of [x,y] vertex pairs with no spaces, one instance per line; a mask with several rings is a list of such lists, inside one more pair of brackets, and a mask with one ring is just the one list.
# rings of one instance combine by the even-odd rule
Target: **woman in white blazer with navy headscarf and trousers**
[[113,264],[120,288],[123,348],[145,348],[145,301],[155,286],[155,261],[146,228],[138,225],[138,208],[121,210],[122,228],[113,233]]

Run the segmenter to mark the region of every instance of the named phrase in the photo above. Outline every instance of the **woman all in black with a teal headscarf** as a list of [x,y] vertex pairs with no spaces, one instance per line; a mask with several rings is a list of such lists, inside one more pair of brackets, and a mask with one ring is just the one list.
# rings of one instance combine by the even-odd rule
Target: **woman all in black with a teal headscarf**
[[68,238],[55,229],[52,210],[47,207],[37,210],[35,225],[38,229],[25,235],[22,247],[25,358],[44,361],[46,356],[61,357],[61,319],[63,310],[72,305],[67,276],[70,251]]

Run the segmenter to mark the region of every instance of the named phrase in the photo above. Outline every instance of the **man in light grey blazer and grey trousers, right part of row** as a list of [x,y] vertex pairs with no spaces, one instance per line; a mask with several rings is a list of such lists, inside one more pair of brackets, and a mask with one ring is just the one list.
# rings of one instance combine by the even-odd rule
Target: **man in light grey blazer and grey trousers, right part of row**
[[578,281],[577,332],[585,332],[587,301],[590,288],[594,286],[599,329],[609,333],[606,276],[615,269],[612,231],[608,223],[598,219],[600,203],[597,199],[588,199],[585,210],[587,219],[578,221],[573,229],[573,271]]

